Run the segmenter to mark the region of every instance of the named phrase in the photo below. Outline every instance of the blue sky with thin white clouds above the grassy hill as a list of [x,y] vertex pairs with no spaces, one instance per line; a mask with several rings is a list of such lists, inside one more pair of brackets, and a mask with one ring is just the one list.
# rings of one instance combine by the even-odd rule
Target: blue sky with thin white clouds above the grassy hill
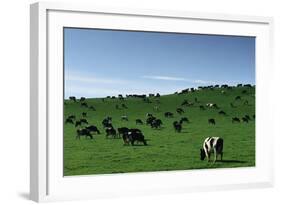
[[255,84],[255,38],[64,29],[65,98]]

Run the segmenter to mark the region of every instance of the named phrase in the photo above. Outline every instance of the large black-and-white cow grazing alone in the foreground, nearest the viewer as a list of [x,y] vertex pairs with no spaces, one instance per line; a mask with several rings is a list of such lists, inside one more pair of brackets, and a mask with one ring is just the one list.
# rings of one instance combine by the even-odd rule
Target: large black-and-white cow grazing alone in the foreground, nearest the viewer
[[200,149],[200,159],[204,160],[207,157],[210,161],[211,153],[214,153],[214,162],[217,161],[217,156],[223,156],[223,139],[220,137],[207,137],[203,142],[203,149]]

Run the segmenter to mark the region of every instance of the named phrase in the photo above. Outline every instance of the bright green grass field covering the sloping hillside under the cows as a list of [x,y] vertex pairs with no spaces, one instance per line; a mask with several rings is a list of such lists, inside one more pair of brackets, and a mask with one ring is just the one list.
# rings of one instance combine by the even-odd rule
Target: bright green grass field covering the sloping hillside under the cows
[[[222,93],[225,90],[225,93]],[[247,90],[243,94],[242,91]],[[241,100],[235,100],[241,96]],[[184,107],[184,100],[199,103]],[[109,174],[126,172],[148,172],[166,170],[188,170],[204,168],[230,168],[255,166],[255,88],[234,87],[231,90],[216,88],[214,90],[199,90],[182,95],[171,94],[161,96],[157,104],[155,97],[149,98],[152,103],[145,103],[139,98],[119,99],[86,99],[89,106],[96,111],[80,106],[79,102],[65,100],[64,117],[76,115],[82,118],[82,112],[87,112],[89,125],[96,125],[101,134],[94,139],[76,139],[76,128],[72,124],[64,125],[64,175]],[[248,105],[244,105],[245,101]],[[128,109],[116,109],[115,106],[126,104]],[[200,110],[200,105],[216,103],[219,109],[206,108]],[[231,107],[233,103],[235,107]],[[159,106],[159,111],[153,107]],[[176,108],[182,107],[182,115],[176,113]],[[219,115],[223,110],[226,116]],[[164,112],[173,112],[173,118],[165,118]],[[152,129],[145,125],[146,113],[152,113],[163,121],[161,129]],[[248,114],[249,123],[232,123],[232,117],[242,118]],[[121,121],[120,117],[127,115],[129,121]],[[148,146],[124,146],[122,138],[106,139],[105,130],[101,124],[106,116],[112,117],[115,129],[118,127],[138,128],[147,139]],[[176,133],[172,123],[181,117],[187,117],[190,123],[183,123],[181,133]],[[136,125],[139,118],[143,125]],[[214,118],[216,125],[209,125],[208,119]],[[208,136],[219,136],[224,139],[224,160],[215,164],[200,160],[200,148]]]

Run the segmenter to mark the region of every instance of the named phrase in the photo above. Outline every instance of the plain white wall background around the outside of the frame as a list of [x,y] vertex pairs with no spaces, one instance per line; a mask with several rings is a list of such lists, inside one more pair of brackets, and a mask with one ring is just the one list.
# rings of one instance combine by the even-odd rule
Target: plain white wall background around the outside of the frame
[[[0,6],[0,204],[31,204],[29,192],[29,4],[30,0],[1,1]],[[79,2],[83,2],[80,0]],[[272,16],[275,20],[275,79],[281,82],[281,6],[278,0],[92,0],[100,6],[207,11]],[[280,88],[280,85],[278,85]],[[279,204],[281,202],[281,92],[276,96],[275,187],[207,193],[144,196],[66,204]],[[266,119],[265,119],[266,120]],[[266,137],[266,136],[265,136]]]

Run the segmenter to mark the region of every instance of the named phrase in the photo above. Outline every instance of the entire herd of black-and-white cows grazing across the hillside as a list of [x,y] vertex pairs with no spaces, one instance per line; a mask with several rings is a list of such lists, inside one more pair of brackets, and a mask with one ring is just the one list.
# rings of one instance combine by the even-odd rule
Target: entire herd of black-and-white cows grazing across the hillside
[[[241,84],[238,84],[237,87],[241,87]],[[244,85],[245,87],[249,87],[250,85]],[[200,87],[200,89],[213,89],[214,87]],[[230,88],[229,86],[224,85],[224,88]],[[186,92],[194,92],[195,89],[191,89],[191,90],[183,90],[180,93],[177,94],[182,94],[182,93],[186,93]],[[245,94],[247,91],[243,90],[242,94]],[[225,94],[225,91],[222,91],[222,94]],[[144,102],[147,102],[146,96],[145,95],[128,95],[126,96],[128,97],[138,97],[138,98],[142,98],[144,99]],[[151,97],[151,94],[149,95],[149,97]],[[153,97],[155,98],[159,98],[160,95],[153,95]],[[109,96],[107,97],[109,98]],[[122,100],[122,102],[124,102],[124,97],[122,95],[119,95],[118,98],[120,100]],[[81,97],[80,100],[77,100],[75,97],[71,96],[69,97],[70,100],[74,101],[74,102],[80,102],[80,106],[81,107],[85,107],[88,108],[89,110],[92,111],[96,111],[94,106],[88,106],[87,102],[86,102],[86,98],[85,97]],[[102,99],[104,102],[104,99]],[[241,101],[242,97],[241,96],[236,96],[234,101]],[[180,120],[178,121],[174,121],[172,123],[172,126],[175,130],[175,132],[180,133],[183,129],[183,124],[184,123],[190,123],[189,119],[187,117],[182,116],[185,111],[182,107],[192,107],[192,106],[196,106],[199,107],[200,110],[206,110],[206,109],[220,109],[219,106],[216,103],[206,103],[205,105],[200,104],[199,100],[197,98],[194,99],[194,102],[190,102],[188,100],[184,100],[180,107],[175,109],[175,112],[181,117]],[[248,105],[248,101],[245,100],[244,101],[244,105]],[[234,103],[230,103],[230,106],[232,108],[235,107]],[[155,106],[157,107],[157,106]],[[154,107],[154,111],[158,110]],[[116,109],[128,109],[127,105],[125,103],[122,103],[121,106],[116,104],[115,105]],[[227,116],[226,112],[223,110],[219,110],[218,111],[219,115],[222,116]],[[76,128],[76,139],[80,139],[82,136],[84,136],[85,138],[90,138],[90,139],[94,139],[93,134],[101,134],[100,130],[97,128],[97,126],[95,125],[89,125],[89,122],[87,121],[86,117],[87,117],[87,112],[83,112],[81,114],[82,118],[77,119],[77,117],[75,115],[69,115],[66,120],[65,120],[65,124],[73,124]],[[173,118],[174,117],[174,113],[167,111],[164,113],[164,117],[165,118]],[[121,116],[120,117],[121,121],[128,121],[129,118],[128,116]],[[242,118],[238,118],[238,117],[232,117],[232,123],[240,123],[245,122],[248,123],[250,120],[255,119],[255,115],[252,115],[251,117],[246,114],[245,116],[243,116]],[[143,145],[147,145],[147,140],[145,139],[144,134],[142,133],[142,131],[138,128],[128,128],[128,127],[119,127],[117,128],[117,130],[114,128],[113,124],[112,124],[112,117],[106,117],[102,120],[101,122],[103,129],[105,131],[105,136],[106,138],[122,138],[124,145],[135,145],[135,143],[142,143]],[[152,113],[146,113],[145,116],[145,123],[143,122],[143,120],[141,119],[135,119],[135,124],[136,125],[143,125],[146,124],[147,126],[150,126],[152,129],[161,129],[163,122],[161,119],[155,117]],[[210,118],[208,119],[208,124],[210,125],[216,125],[216,120],[214,118]],[[221,159],[222,159],[222,149],[223,149],[223,140],[220,137],[208,137],[205,139],[205,141],[203,142],[203,149],[200,150],[200,155],[201,155],[201,159],[203,160],[206,156],[209,159],[209,155],[210,152],[212,150],[212,152],[215,152],[217,154],[221,154]],[[215,159],[216,159],[216,154],[215,154]]]

